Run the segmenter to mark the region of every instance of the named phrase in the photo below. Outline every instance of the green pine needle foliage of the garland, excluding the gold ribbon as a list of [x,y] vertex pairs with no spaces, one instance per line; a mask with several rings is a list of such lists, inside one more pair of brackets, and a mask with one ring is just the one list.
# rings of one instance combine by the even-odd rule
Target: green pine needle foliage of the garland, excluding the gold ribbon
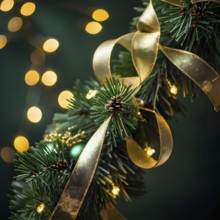
[[[184,7],[180,8],[159,0],[153,1],[161,25],[160,43],[193,51],[219,70],[219,4],[201,2],[192,5],[189,0],[183,2]],[[144,0],[143,6],[136,10],[141,13],[146,5]],[[136,21],[137,18],[134,18],[131,23],[132,30],[135,30]],[[113,69],[121,76],[137,75],[131,56],[125,51],[120,52]],[[12,184],[11,219],[49,218],[76,163],[69,155],[70,149],[77,143],[88,142],[110,116],[101,158],[77,219],[101,219],[100,210],[107,204],[141,196],[145,192],[143,171],[130,161],[125,147],[126,137],[137,137],[141,133],[141,122],[148,117],[141,118],[137,100],[142,107],[155,110],[164,118],[173,118],[177,112],[184,113],[178,99],[180,91],[191,100],[198,93],[197,87],[161,52],[151,75],[138,93],[115,78],[106,80],[104,85],[95,80],[84,84],[77,81],[68,111],[55,114],[46,130],[47,135],[53,132],[58,135],[17,155],[15,169],[18,175]],[[145,123],[148,126],[149,120]],[[153,143],[154,136],[148,134],[148,140],[144,141]],[[112,193],[114,186],[120,189],[117,196]],[[45,209],[38,213],[37,207],[42,203]]]

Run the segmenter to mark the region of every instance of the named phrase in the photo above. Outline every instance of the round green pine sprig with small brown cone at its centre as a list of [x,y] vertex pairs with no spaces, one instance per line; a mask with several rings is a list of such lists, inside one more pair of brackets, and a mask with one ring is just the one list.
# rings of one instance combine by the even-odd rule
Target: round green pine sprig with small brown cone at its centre
[[97,125],[111,117],[110,132],[116,139],[124,140],[135,130],[137,107],[133,102],[134,89],[111,78],[98,89],[92,101],[91,118]]

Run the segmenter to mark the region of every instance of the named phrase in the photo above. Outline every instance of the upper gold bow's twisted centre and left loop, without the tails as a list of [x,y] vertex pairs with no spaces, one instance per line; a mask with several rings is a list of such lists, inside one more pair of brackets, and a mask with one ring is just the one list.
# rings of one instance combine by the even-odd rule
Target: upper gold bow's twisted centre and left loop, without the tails
[[160,38],[159,21],[151,3],[140,17],[137,29],[138,31],[134,33],[102,43],[95,51],[93,69],[101,83],[112,75],[110,60],[117,43],[131,52],[133,64],[138,73],[138,76],[119,77],[119,79],[133,87],[138,87],[149,76],[157,59]]

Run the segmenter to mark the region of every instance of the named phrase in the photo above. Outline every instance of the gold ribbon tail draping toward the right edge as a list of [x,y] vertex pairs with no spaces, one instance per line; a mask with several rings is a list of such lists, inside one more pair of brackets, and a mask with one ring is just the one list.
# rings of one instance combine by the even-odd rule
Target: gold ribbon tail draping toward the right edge
[[220,76],[202,58],[188,51],[160,46],[166,57],[208,96],[216,111],[220,109]]

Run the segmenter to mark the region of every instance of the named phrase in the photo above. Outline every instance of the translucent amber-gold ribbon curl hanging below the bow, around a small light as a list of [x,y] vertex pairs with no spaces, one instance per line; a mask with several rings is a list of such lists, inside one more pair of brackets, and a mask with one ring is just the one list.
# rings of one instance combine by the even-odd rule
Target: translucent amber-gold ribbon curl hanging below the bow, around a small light
[[160,114],[150,109],[142,109],[142,111],[147,111],[156,118],[160,141],[159,158],[156,160],[149,157],[133,138],[126,139],[126,146],[129,158],[134,164],[144,169],[151,169],[161,166],[169,159],[173,149],[173,138],[169,125]]

